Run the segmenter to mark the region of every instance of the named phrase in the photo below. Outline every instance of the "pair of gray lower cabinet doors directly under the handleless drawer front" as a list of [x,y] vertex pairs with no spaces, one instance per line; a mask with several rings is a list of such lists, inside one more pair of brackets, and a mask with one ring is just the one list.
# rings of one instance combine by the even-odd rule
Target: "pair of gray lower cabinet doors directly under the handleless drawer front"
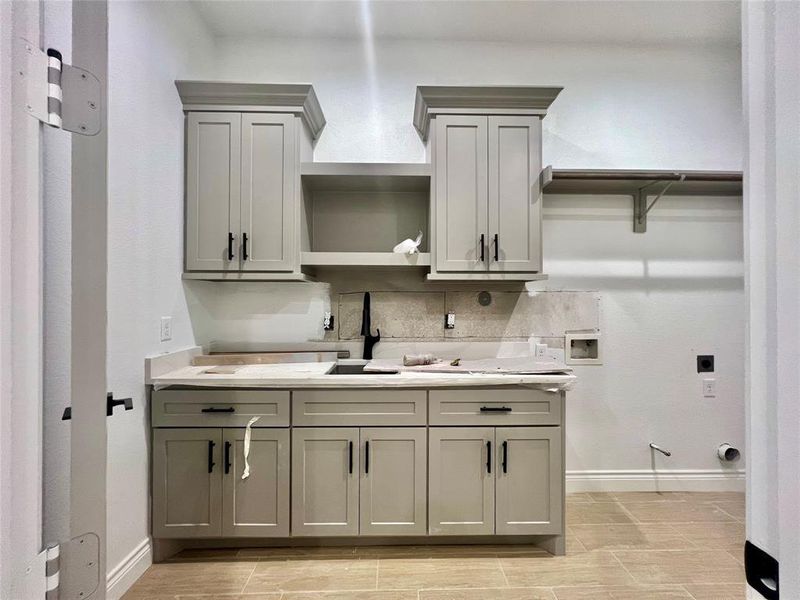
[[292,429],[292,535],[425,535],[425,427]]

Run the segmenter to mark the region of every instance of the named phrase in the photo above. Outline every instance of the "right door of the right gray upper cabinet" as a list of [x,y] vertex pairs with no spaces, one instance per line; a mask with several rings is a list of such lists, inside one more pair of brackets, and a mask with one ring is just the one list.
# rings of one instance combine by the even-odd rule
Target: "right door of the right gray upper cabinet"
[[491,271],[542,270],[541,120],[489,117]]

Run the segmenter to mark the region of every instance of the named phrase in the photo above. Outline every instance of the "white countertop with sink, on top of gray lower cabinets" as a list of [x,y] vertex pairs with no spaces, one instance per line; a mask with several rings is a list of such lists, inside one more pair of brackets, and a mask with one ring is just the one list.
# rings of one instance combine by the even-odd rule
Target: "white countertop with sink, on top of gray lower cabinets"
[[568,389],[574,375],[489,373],[397,373],[328,375],[334,362],[243,365],[235,373],[205,373],[209,367],[181,367],[151,378],[157,388],[170,385],[263,388],[431,388],[525,385],[553,391]]

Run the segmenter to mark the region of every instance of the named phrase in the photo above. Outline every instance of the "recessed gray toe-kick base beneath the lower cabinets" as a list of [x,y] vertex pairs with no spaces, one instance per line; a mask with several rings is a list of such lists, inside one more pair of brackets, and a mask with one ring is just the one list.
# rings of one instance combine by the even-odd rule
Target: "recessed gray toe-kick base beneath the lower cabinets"
[[563,535],[481,535],[325,538],[193,538],[153,539],[153,562],[164,562],[185,549],[213,548],[323,548],[340,546],[480,546],[530,545],[555,556],[566,554]]

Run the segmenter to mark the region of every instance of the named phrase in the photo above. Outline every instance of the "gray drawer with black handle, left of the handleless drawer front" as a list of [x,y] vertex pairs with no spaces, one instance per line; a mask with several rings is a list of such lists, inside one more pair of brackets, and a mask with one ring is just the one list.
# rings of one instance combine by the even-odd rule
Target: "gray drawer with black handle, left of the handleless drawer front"
[[152,396],[153,427],[289,425],[289,392],[264,390],[160,390]]

